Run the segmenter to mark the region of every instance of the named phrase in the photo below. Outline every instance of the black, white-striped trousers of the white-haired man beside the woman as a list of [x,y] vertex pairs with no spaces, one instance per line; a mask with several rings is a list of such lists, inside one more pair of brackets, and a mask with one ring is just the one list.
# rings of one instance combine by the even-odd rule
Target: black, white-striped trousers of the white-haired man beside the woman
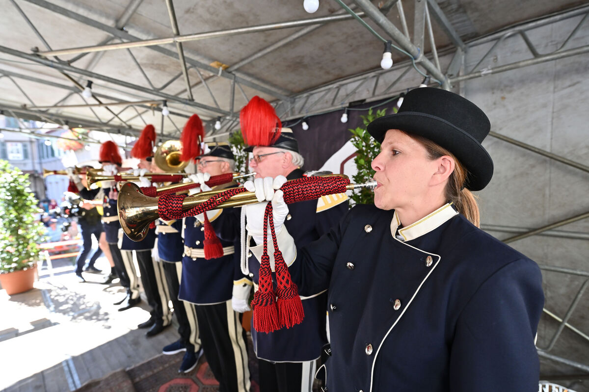
[[260,392],[312,392],[315,361],[277,362],[258,359]]

